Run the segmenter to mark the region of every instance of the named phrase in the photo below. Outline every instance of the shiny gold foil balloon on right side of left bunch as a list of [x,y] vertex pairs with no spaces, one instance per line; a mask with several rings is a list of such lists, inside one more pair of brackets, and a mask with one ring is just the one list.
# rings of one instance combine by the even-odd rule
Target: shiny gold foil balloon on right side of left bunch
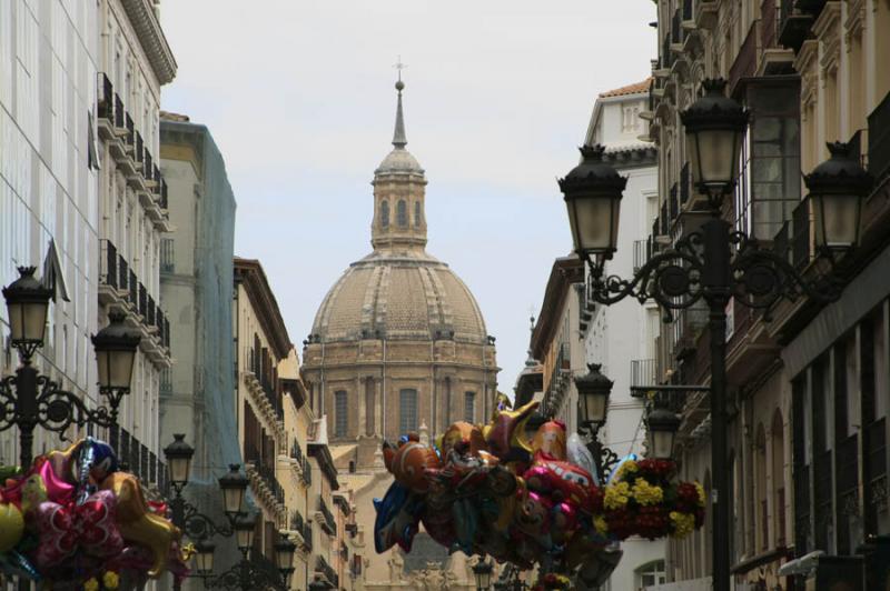
[[174,542],[180,538],[179,529],[167,519],[149,511],[139,480],[126,472],[112,472],[100,488],[115,493],[118,500],[117,521],[120,533],[128,542],[142,544],[154,555],[149,575],[159,577],[167,564]]

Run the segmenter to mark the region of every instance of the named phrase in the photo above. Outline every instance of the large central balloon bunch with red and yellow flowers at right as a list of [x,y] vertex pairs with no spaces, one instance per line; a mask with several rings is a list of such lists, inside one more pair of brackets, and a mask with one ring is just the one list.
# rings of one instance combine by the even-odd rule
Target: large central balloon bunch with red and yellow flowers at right
[[502,403],[488,424],[456,422],[432,444],[415,433],[385,442],[395,482],[374,501],[376,551],[409,552],[423,524],[452,551],[593,580],[629,535],[682,537],[701,525],[701,487],[676,483],[673,462],[629,455],[604,478],[563,423],[545,422],[526,439],[536,408]]

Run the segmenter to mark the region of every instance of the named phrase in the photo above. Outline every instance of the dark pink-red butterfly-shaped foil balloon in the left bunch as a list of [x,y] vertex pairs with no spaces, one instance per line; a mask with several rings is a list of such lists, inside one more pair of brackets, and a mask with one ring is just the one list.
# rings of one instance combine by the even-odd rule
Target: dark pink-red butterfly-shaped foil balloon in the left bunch
[[39,569],[53,567],[82,549],[99,558],[123,549],[123,539],[115,523],[115,494],[99,491],[86,502],[62,505],[47,501],[37,510],[40,545],[33,552]]

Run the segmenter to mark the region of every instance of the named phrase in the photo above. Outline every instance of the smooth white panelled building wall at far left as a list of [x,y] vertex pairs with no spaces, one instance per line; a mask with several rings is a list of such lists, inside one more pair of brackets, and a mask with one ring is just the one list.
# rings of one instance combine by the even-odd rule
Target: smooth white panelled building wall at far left
[[[99,31],[99,12],[85,6],[0,3],[0,286],[18,279],[17,267],[37,267],[37,276],[47,277],[52,242],[62,277],[34,363],[92,405],[98,378],[89,338],[105,324],[97,318]],[[8,344],[6,303],[0,337],[0,373],[7,375],[19,360]],[[34,432],[34,451],[59,444],[47,431]],[[0,463],[18,458],[17,430],[3,431]]]

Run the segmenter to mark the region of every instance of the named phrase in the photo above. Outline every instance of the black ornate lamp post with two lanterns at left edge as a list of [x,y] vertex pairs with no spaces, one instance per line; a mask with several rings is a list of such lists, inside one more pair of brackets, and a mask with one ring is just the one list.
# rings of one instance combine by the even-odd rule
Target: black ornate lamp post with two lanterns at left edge
[[52,290],[34,278],[33,267],[20,267],[19,279],[3,288],[10,324],[10,342],[19,351],[21,365],[0,381],[0,431],[19,429],[19,463],[27,469],[33,460],[33,431],[42,427],[63,433],[71,424],[108,428],[111,445],[117,444],[120,401],[130,391],[139,332],[123,324],[123,317],[110,314],[111,323],[92,337],[99,362],[99,392],[109,408],[88,408],[73,393],[41,375],[31,364],[43,347],[47,312]]

